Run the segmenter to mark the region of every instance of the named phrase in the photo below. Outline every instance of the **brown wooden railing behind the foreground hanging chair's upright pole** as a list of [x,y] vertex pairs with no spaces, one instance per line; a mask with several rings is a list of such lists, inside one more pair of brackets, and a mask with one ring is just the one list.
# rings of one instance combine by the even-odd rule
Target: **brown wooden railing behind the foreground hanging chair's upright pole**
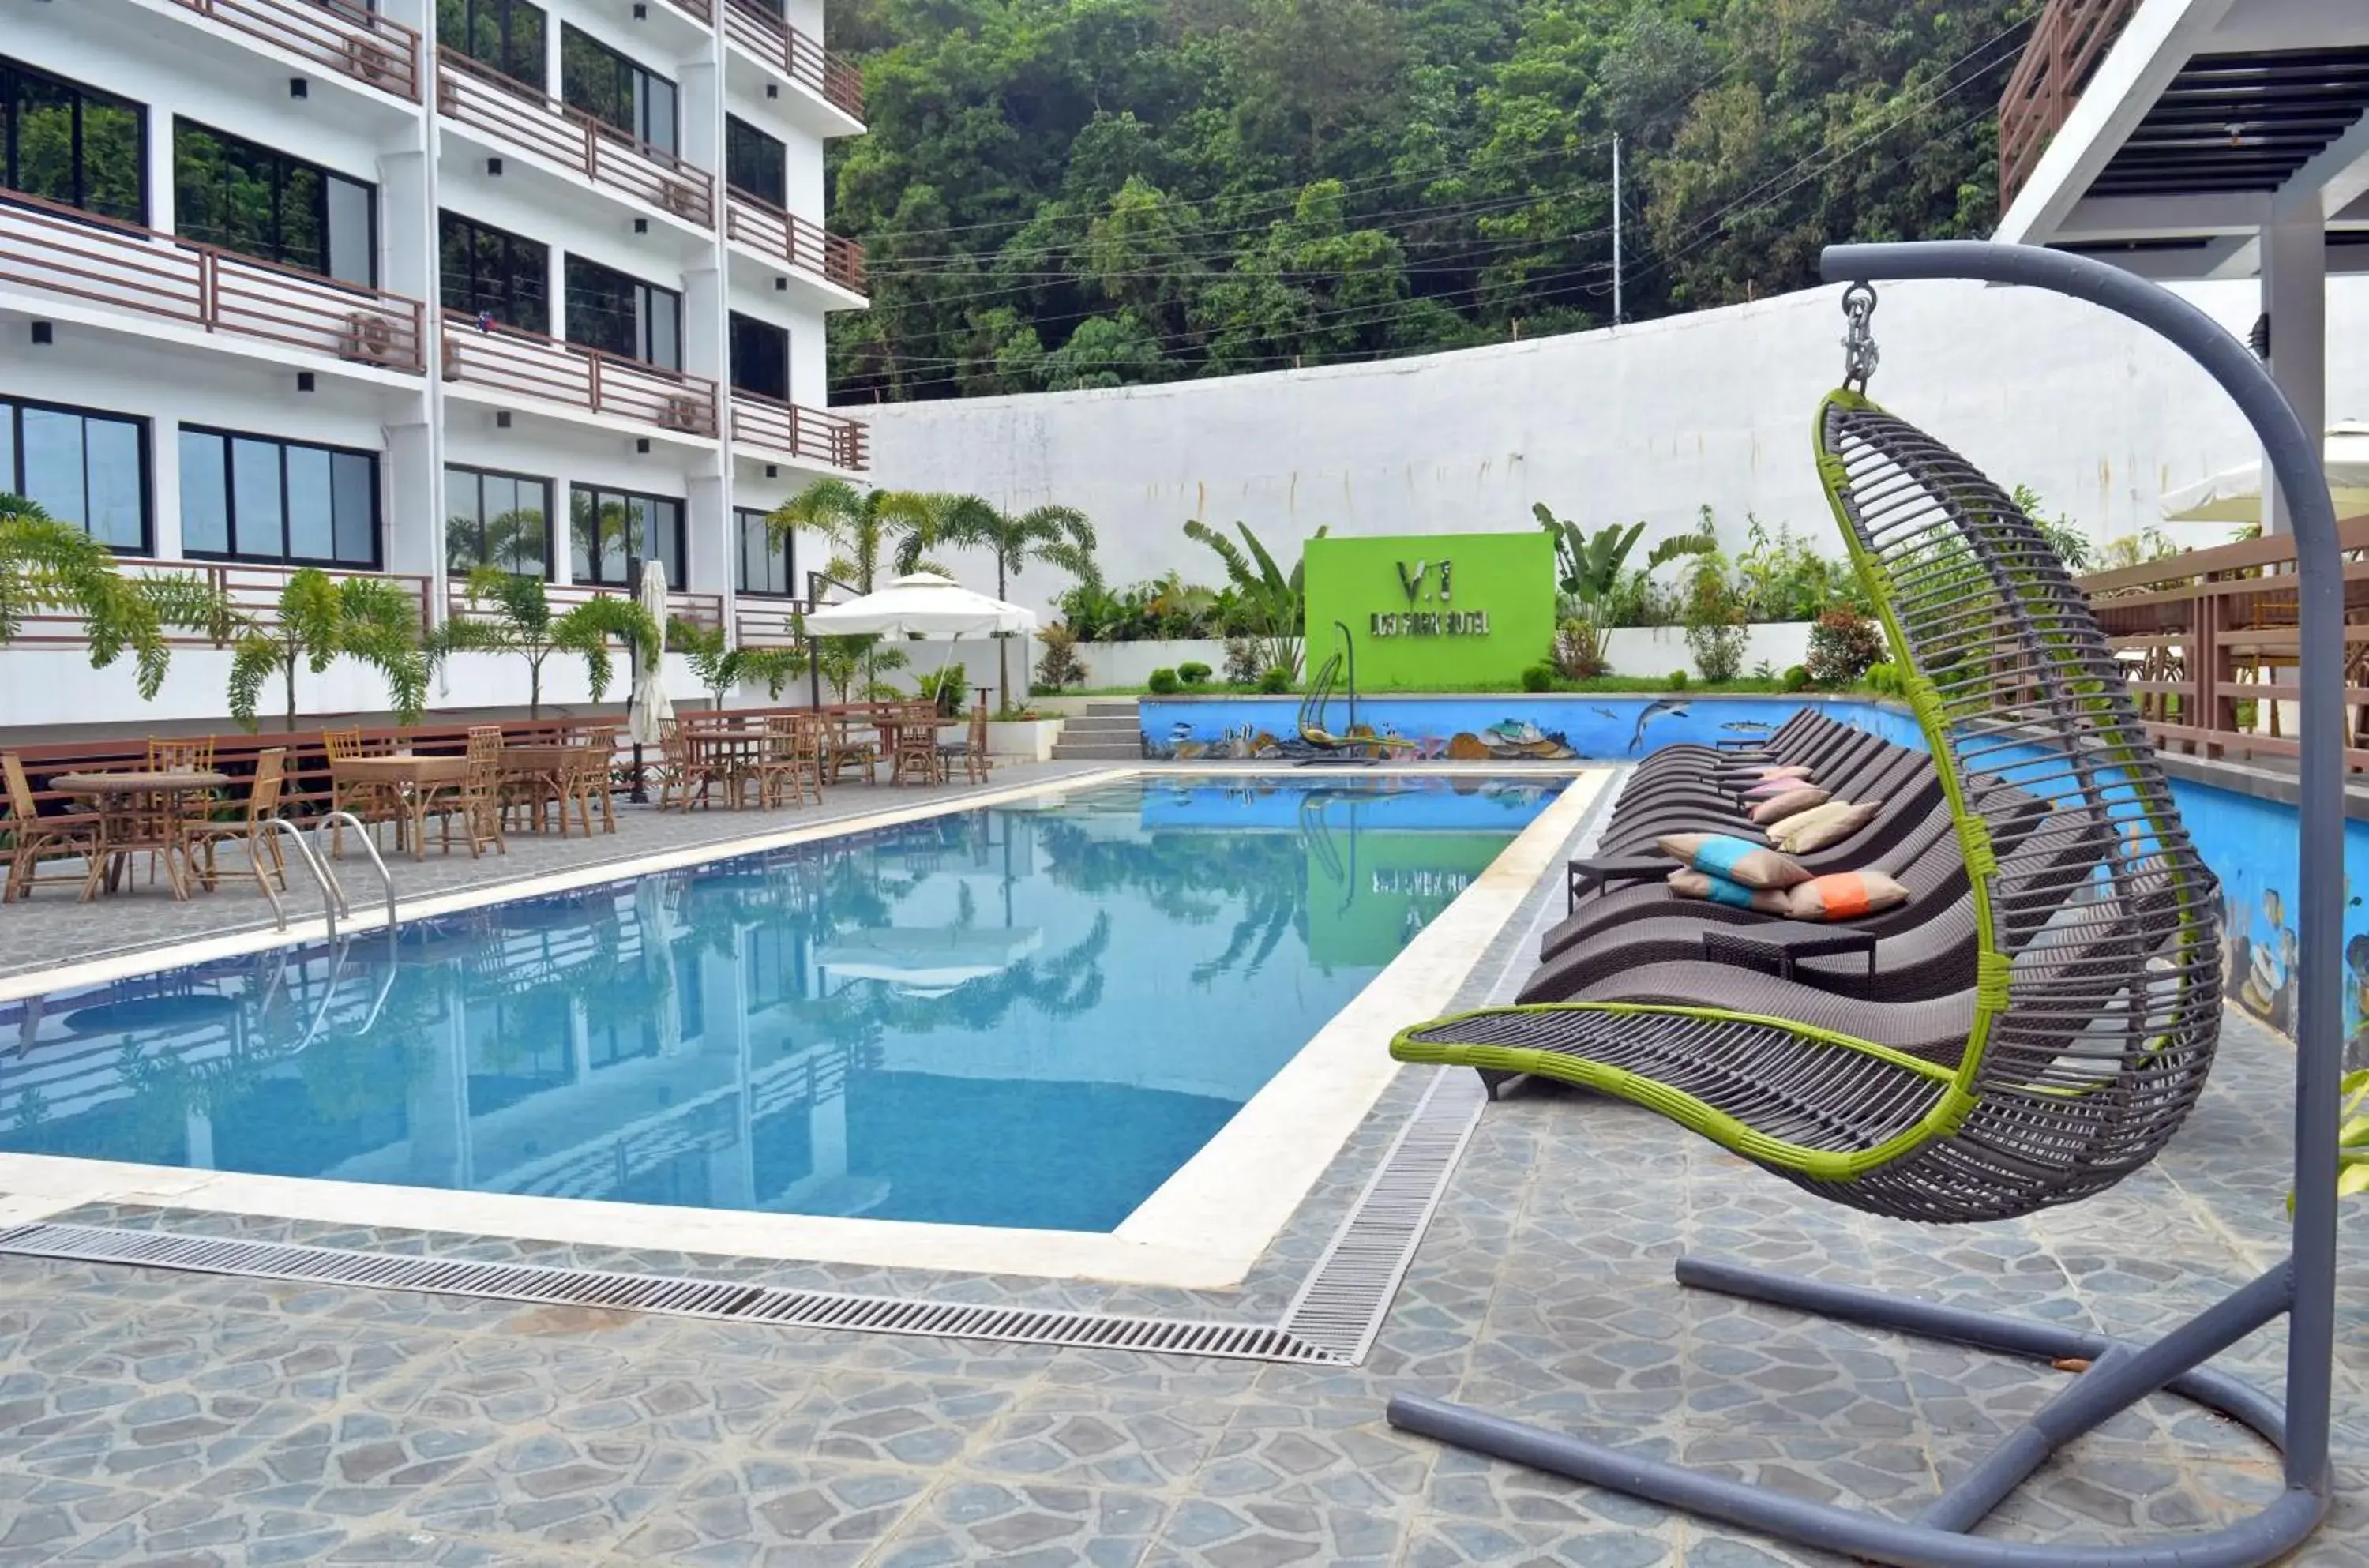
[[[2345,765],[2369,770],[2369,516],[2345,547]],[[2206,758],[2293,758],[2279,703],[2296,687],[2291,535],[2075,578],[2130,670],[2156,746]]]

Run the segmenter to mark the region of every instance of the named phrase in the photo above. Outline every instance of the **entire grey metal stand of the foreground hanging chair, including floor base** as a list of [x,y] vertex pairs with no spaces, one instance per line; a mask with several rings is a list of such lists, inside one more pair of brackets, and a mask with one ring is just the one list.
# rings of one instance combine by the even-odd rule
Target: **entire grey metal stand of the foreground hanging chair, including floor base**
[[[2255,1568],[2293,1551],[2329,1506],[2329,1397],[2336,1331],[2336,1132],[2343,1071],[2338,964],[2343,950],[2343,568],[2336,512],[2305,431],[2253,353],[2175,294],[2087,256],[1985,242],[1829,246],[1829,282],[1966,279],[2085,298],[2170,339],[2229,393],[2288,500],[2300,599],[2300,874],[2296,1026],[2296,1213],[2288,1258],[2153,1343],[2085,1334],[1999,1312],[1973,1312],[1739,1262],[1687,1258],[1677,1281],[1872,1329],[2066,1360],[2075,1376],[2030,1421],[1935,1497],[1917,1518],[1810,1502],[1658,1459],[1507,1421],[1443,1400],[1398,1395],[1388,1419],[1457,1447],[1751,1530],[1907,1568]],[[1872,362],[1872,360],[1869,360]],[[1864,374],[1864,367],[1860,369]],[[2206,1362],[2286,1317],[2284,1402]],[[2220,1409],[2284,1452],[2286,1490],[2222,1530],[2099,1547],[1973,1535],[2066,1442],[2151,1393]]]

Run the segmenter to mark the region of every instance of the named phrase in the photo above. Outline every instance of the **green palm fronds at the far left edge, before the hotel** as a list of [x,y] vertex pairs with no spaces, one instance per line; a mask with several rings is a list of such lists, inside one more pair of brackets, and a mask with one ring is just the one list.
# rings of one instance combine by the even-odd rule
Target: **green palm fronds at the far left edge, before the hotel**
[[17,640],[26,616],[73,611],[90,642],[90,668],[133,656],[142,699],[163,687],[166,628],[187,625],[227,635],[230,606],[192,573],[126,578],[116,557],[73,523],[52,519],[21,495],[0,490],[0,647]]

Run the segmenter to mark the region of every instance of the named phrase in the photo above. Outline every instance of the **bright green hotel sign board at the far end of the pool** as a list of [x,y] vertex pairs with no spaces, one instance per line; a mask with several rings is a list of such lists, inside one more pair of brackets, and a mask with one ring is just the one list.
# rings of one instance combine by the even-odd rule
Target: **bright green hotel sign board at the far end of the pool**
[[1308,670],[1348,630],[1360,692],[1514,685],[1554,642],[1554,538],[1308,540]]

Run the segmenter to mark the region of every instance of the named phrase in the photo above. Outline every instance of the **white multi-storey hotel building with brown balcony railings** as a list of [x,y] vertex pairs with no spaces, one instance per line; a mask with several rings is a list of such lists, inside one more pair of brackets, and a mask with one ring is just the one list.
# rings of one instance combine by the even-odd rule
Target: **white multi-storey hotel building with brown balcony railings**
[[[860,130],[822,0],[0,0],[0,488],[251,604],[325,566],[429,623],[481,561],[566,604],[656,557],[675,613],[782,640],[758,519],[867,467],[822,412]],[[0,730],[220,715],[211,649],[145,711],[69,640],[0,654]],[[434,706],[524,701],[516,663]]]

